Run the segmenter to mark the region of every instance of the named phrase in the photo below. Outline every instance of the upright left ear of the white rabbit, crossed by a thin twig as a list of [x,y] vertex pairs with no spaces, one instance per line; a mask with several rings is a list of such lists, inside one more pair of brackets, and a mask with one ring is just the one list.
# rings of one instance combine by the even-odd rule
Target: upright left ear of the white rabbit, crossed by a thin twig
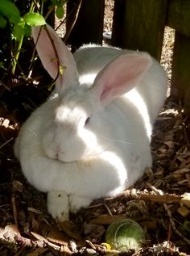
[[[56,34],[56,31],[47,25],[47,31],[44,28],[40,30],[41,27],[32,27],[32,36],[36,44],[37,52],[39,58],[42,61],[43,67],[47,70],[50,76],[55,79],[57,73],[60,69],[64,69],[64,72],[60,72],[59,78],[56,80],[57,86],[63,86],[63,88],[68,88],[78,81],[78,73],[76,69],[76,62],[72,57],[72,53],[68,51],[67,46]],[[60,66],[58,66],[56,52],[53,47],[52,41],[56,47],[56,52],[60,61]]]

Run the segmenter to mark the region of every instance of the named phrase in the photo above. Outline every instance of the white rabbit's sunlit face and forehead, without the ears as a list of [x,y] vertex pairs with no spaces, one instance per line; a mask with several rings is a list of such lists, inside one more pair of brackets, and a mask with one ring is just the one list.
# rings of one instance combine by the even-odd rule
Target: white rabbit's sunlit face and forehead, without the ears
[[48,157],[73,162],[96,151],[96,136],[89,129],[94,108],[89,91],[67,90],[57,99],[52,123],[43,131],[42,144]]

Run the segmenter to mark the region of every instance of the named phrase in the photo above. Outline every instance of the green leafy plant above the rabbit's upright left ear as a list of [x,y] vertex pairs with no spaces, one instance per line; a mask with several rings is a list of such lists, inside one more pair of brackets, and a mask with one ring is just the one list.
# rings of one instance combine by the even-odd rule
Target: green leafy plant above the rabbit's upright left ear
[[[19,8],[11,0],[0,1],[0,27],[6,28],[10,25],[11,38],[14,40],[14,46],[11,49],[11,73],[15,73],[18,65],[19,54],[23,46],[24,36],[31,35],[31,26],[42,26],[46,23],[47,16],[56,9],[58,19],[64,16],[64,0],[51,0],[51,5],[47,15],[43,15],[44,0],[31,0],[31,5],[26,14],[21,15]],[[1,50],[1,49],[0,49]]]

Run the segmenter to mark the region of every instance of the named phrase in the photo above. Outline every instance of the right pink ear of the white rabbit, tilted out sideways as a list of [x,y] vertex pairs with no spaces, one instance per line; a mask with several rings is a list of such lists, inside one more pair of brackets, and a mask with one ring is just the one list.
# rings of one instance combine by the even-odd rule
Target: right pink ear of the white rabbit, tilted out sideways
[[92,90],[101,103],[109,103],[114,97],[133,89],[151,64],[151,57],[147,53],[121,55],[97,74]]

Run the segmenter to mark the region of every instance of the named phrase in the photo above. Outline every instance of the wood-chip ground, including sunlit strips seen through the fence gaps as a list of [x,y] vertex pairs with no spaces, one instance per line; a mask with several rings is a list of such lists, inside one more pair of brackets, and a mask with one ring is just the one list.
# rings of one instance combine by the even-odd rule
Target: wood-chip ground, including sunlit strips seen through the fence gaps
[[[107,1],[111,10],[112,2]],[[110,30],[111,14],[105,30]],[[167,28],[162,64],[171,77],[173,31]],[[190,254],[190,119],[168,97],[155,123],[152,169],[116,198],[98,199],[57,224],[47,213],[46,195],[27,183],[14,157],[14,138],[46,96],[48,77],[39,63],[29,82],[10,78],[2,86],[0,109],[0,255],[119,254],[107,250],[105,231],[114,220],[131,218],[145,230],[142,249],[125,255]],[[168,92],[169,94],[169,92]]]

